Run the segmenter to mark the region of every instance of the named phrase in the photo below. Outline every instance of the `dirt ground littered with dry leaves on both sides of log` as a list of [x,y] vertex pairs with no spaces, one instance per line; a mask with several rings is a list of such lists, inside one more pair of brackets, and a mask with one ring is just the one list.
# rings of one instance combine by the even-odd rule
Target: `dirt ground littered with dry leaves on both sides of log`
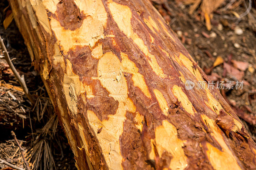
[[[239,19],[235,15],[241,15],[247,10],[248,1],[228,10],[223,10],[227,5],[224,3],[214,12],[212,30],[208,31],[200,10],[189,14],[189,5],[185,6],[178,0],[169,0],[170,8],[163,4],[154,5],[210,80],[215,83],[223,81],[225,88],[229,81],[244,82],[242,89],[220,89],[220,92],[256,141],[256,10],[252,8]],[[35,150],[35,143],[40,142],[49,146],[51,154],[48,153],[49,150],[42,150],[41,154],[42,158],[50,155],[48,162],[52,163],[46,165],[46,169],[54,169],[54,165],[56,169],[76,169],[73,153],[57,118],[54,117],[43,83],[33,69],[15,22],[12,21],[7,29],[3,27],[5,15],[10,10],[7,8],[4,11],[7,6],[7,1],[0,2],[0,34],[14,66],[20,75],[25,76],[29,91],[38,99],[34,108],[7,63],[0,59],[0,158],[23,167],[20,151],[11,136],[13,130],[24,149],[34,147]],[[1,51],[0,55],[3,55]],[[43,133],[45,129],[48,131],[46,134]],[[33,162],[35,157],[27,158],[31,158],[30,162]],[[0,165],[0,169],[4,167]]]

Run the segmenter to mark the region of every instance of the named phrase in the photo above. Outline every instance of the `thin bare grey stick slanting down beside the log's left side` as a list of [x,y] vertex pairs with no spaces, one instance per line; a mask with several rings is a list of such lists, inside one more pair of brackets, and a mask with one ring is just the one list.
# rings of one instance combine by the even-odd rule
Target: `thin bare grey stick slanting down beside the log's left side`
[[28,87],[27,87],[25,81],[20,77],[20,74],[19,74],[18,71],[15,69],[14,65],[12,64],[12,61],[11,61],[10,56],[9,56],[9,54],[8,54],[8,51],[7,51],[7,49],[6,49],[5,45],[4,45],[4,41],[3,41],[3,39],[1,38],[1,35],[0,35],[0,45],[1,45],[1,48],[2,48],[2,52],[4,53],[4,57],[5,57],[6,62],[7,62],[8,65],[10,66],[10,68],[11,68],[11,70],[12,70],[14,76],[18,79],[18,81],[19,81],[19,83],[20,83],[20,85],[21,85],[21,87],[22,87],[24,93],[26,94],[28,100],[29,100],[31,103],[35,104],[35,100],[33,99],[32,95],[28,92]]

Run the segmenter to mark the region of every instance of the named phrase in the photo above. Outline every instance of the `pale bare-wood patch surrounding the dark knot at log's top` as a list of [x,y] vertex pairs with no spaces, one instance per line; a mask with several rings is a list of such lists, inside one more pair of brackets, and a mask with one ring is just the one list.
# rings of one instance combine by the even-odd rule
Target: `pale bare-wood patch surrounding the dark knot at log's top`
[[[93,47],[99,39],[104,38],[104,26],[107,23],[107,12],[105,11],[102,2],[100,0],[96,0],[88,4],[83,1],[76,1],[76,3],[77,5],[73,4],[73,6],[78,6],[79,9],[76,9],[77,7],[74,7],[73,10],[76,9],[76,11],[78,10],[81,12],[84,11],[84,15],[88,16],[83,18],[81,22],[79,21],[79,23],[81,23],[81,26],[75,29],[69,29],[69,27],[72,27],[71,25],[67,27],[68,29],[62,26],[61,24],[64,24],[64,21],[61,22],[61,19],[58,18],[58,16],[49,16],[50,26],[52,28],[53,33],[55,34],[56,39],[59,42],[59,45],[62,47],[61,49],[63,50],[64,54],[67,54],[70,49],[74,49],[76,48],[76,46]],[[48,6],[46,6],[46,8],[51,8],[51,3],[47,3],[47,5]],[[93,10],[93,8],[96,6],[97,10]],[[90,9],[90,11],[88,11],[87,9]],[[54,10],[55,9],[52,9],[52,11]],[[73,17],[71,17],[70,19],[72,20]],[[78,20],[80,19],[78,18]]]

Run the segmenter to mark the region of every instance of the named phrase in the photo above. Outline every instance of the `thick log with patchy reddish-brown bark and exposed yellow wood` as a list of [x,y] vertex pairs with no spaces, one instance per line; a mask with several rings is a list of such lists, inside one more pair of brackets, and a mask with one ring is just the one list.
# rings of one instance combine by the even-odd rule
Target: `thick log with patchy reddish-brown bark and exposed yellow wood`
[[78,169],[256,169],[242,122],[196,88],[208,78],[148,0],[9,2]]

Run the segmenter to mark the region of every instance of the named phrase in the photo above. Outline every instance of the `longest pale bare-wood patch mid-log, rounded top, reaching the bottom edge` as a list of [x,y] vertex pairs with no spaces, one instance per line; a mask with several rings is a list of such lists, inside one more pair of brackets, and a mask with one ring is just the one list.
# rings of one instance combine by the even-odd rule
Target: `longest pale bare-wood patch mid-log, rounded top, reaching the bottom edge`
[[120,74],[120,68],[121,62],[117,56],[111,52],[106,53],[99,60],[97,70],[98,77],[96,78],[100,80],[101,85],[109,92],[109,97],[113,97],[113,99],[118,101],[116,114],[108,115],[108,120],[100,121],[93,111],[87,111],[87,116],[94,132],[97,133],[99,126],[103,127],[97,138],[110,169],[122,168],[119,137],[123,133],[126,111],[136,111],[132,100],[128,98],[125,78],[121,76],[119,81],[116,80],[116,76]]

